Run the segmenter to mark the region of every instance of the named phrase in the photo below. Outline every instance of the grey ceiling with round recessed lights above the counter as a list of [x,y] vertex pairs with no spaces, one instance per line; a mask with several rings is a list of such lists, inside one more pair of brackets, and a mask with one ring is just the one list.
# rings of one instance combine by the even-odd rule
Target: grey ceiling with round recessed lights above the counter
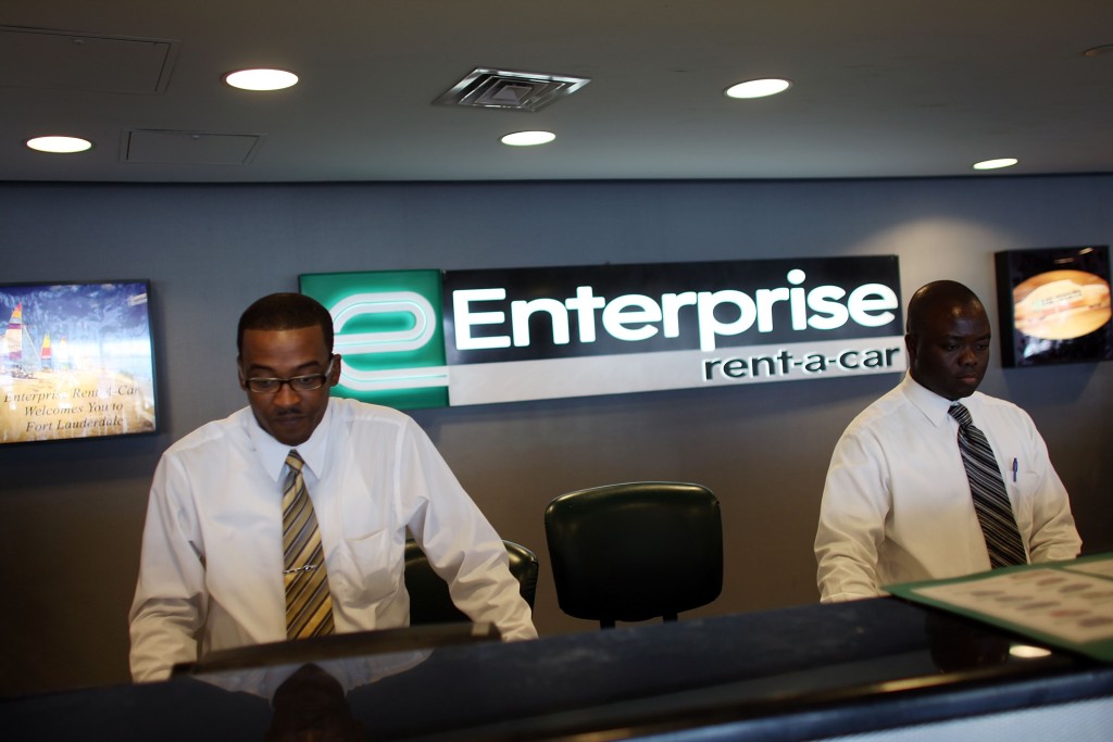
[[[1113,44],[1110,0],[0,0],[0,180],[1113,172],[1113,51],[1083,53]],[[302,82],[221,82],[252,66]],[[538,112],[433,103],[476,67],[591,82]],[[722,95],[759,77],[794,87]],[[523,129],[556,140],[499,142]]]

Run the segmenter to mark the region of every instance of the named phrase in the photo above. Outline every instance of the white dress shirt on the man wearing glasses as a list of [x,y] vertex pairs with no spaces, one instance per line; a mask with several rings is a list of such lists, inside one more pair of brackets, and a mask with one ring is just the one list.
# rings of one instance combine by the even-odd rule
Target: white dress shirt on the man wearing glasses
[[[332,398],[297,451],[337,633],[408,625],[408,527],[472,621],[493,623],[508,640],[536,636],[502,540],[408,416]],[[130,614],[135,680],[164,679],[198,652],[286,640],[288,453],[245,407],[162,455]]]

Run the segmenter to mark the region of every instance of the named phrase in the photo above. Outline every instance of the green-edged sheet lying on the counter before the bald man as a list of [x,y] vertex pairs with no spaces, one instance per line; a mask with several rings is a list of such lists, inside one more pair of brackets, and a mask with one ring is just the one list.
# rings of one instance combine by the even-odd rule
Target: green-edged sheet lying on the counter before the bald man
[[1113,554],[887,585],[885,590],[1113,662]]

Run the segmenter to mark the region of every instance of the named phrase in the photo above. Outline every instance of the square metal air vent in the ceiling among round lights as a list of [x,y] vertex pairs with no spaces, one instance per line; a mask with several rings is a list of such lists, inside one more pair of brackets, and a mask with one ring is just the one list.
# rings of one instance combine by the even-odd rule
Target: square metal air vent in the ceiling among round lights
[[587,78],[477,68],[434,103],[536,111],[591,82]]

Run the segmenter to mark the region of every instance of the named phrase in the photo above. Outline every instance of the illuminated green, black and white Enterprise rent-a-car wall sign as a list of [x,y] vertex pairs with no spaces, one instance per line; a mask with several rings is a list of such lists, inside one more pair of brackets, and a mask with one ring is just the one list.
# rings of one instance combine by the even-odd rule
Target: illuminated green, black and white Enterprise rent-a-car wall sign
[[341,396],[394,407],[904,370],[896,256],[307,274]]

